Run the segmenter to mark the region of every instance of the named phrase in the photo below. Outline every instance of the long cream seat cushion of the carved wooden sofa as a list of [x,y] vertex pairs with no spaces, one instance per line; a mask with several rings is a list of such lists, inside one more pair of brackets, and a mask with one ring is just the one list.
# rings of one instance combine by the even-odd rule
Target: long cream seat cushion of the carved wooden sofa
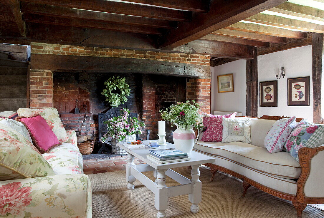
[[226,158],[247,168],[280,178],[298,179],[301,174],[298,161],[285,151],[271,154],[265,148],[244,142],[197,141],[194,148],[207,155]]

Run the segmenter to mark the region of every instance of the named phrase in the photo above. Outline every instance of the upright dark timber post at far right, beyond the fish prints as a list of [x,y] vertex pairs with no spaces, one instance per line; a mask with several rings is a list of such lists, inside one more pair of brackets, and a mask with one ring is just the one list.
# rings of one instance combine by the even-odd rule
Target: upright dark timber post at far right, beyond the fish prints
[[313,121],[323,122],[321,113],[321,98],[324,70],[324,41],[323,34],[314,33],[312,37],[312,81],[313,81]]

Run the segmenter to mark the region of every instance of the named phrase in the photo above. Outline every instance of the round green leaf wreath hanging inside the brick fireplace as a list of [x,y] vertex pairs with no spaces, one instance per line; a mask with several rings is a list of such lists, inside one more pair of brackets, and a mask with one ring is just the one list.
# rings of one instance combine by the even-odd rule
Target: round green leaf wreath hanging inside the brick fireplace
[[106,89],[103,89],[101,94],[106,97],[106,101],[108,101],[113,108],[117,108],[127,101],[126,96],[129,96],[131,89],[125,80],[125,78],[117,76],[116,78],[109,78],[104,83]]

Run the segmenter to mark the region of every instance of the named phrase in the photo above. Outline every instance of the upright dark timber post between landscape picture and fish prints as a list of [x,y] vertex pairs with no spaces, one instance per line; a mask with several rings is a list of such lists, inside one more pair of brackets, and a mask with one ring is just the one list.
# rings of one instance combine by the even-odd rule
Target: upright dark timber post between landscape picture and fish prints
[[258,117],[258,48],[246,61],[246,116]]

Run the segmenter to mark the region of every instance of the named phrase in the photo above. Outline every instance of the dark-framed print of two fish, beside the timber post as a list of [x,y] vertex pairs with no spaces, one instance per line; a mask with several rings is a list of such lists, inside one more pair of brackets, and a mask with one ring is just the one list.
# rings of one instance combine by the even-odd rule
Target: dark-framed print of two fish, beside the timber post
[[260,82],[260,107],[278,106],[278,81]]

